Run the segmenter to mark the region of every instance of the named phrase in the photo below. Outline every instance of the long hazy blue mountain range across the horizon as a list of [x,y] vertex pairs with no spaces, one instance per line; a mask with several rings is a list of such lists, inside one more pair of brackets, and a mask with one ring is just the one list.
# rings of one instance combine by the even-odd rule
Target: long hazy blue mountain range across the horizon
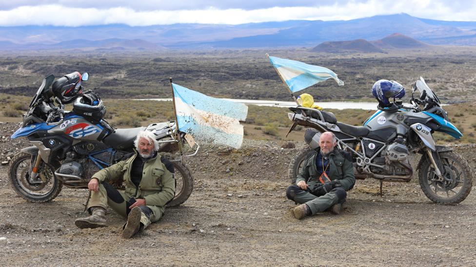
[[[289,20],[241,25],[0,27],[0,50],[311,48],[329,41],[381,41],[393,33],[431,45],[476,46],[476,21],[442,21],[396,14],[352,20]],[[368,46],[361,40],[357,43]],[[354,45],[357,44],[351,46]],[[372,45],[387,49],[376,42]]]

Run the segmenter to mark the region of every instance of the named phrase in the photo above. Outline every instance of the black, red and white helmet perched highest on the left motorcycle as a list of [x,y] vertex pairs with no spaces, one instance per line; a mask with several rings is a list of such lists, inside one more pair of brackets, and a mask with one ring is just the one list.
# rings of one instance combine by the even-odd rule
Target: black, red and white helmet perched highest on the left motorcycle
[[56,80],[51,86],[53,95],[58,97],[62,104],[69,104],[78,98],[83,92],[81,86],[81,74],[78,71],[64,75]]

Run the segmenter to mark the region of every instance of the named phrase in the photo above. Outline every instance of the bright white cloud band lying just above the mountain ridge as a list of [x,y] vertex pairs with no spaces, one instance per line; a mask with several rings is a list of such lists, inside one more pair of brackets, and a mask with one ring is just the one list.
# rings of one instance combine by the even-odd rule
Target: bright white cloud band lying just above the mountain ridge
[[[42,2],[54,1],[43,0]],[[303,4],[305,2],[301,1]],[[242,24],[289,19],[347,20],[402,12],[420,18],[476,20],[474,15],[476,14],[476,4],[472,1],[466,5],[461,3],[461,1],[455,1],[453,5],[447,2],[446,0],[366,0],[341,1],[341,3],[336,2],[335,4],[321,6],[269,7],[251,10],[210,7],[197,10],[144,11],[135,10],[131,7],[95,8],[88,7],[88,4],[81,4],[83,7],[77,7],[78,5],[43,4],[0,10],[0,26],[83,26],[111,23],[128,24],[131,26],[174,23]],[[150,1],[148,3],[150,4]],[[465,8],[455,10],[455,7],[458,7],[458,5],[464,5]]]

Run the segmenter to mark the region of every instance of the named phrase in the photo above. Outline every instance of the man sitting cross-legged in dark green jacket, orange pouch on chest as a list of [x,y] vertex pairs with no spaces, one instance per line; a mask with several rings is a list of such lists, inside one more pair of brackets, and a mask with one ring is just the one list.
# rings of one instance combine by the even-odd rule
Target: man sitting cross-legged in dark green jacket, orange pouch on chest
[[301,205],[292,210],[297,219],[330,210],[335,214],[342,211],[346,191],[354,187],[354,167],[349,153],[336,147],[336,136],[332,132],[320,135],[308,129],[305,141],[314,148],[302,162],[296,185],[286,190],[286,196]]

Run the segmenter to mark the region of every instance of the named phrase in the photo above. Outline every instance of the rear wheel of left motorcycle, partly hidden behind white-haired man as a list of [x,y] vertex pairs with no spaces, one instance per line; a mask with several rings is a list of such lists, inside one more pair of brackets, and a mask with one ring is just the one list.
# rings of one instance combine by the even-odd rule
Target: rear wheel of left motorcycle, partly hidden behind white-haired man
[[175,167],[175,197],[167,203],[167,207],[179,206],[185,202],[193,190],[193,176],[188,164],[173,161]]

